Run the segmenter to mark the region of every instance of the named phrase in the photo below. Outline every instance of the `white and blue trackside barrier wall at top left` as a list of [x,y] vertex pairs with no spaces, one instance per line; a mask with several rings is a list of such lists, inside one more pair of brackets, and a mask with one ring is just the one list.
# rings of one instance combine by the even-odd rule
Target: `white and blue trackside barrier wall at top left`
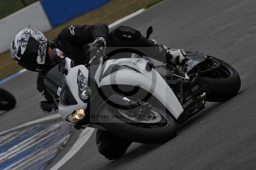
[[0,53],[10,48],[12,38],[21,29],[29,26],[41,32],[47,32],[70,18],[96,9],[109,1],[41,0],[20,9],[0,20]]

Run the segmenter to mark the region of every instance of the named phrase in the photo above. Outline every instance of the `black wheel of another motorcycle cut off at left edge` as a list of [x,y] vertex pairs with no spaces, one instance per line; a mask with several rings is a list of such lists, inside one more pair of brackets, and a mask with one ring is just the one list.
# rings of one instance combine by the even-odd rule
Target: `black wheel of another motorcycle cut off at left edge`
[[5,89],[0,88],[0,110],[10,110],[13,109],[15,105],[15,97]]

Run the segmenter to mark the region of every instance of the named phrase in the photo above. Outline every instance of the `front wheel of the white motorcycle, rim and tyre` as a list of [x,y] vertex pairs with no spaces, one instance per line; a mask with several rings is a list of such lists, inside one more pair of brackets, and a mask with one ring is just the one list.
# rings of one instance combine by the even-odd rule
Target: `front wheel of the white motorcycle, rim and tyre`
[[[100,111],[108,118],[99,119],[100,124],[109,132],[124,138],[145,144],[160,144],[169,141],[177,133],[177,124],[171,115],[152,107],[149,117],[134,116],[131,118],[125,110],[105,106]],[[119,118],[121,115],[122,118]]]

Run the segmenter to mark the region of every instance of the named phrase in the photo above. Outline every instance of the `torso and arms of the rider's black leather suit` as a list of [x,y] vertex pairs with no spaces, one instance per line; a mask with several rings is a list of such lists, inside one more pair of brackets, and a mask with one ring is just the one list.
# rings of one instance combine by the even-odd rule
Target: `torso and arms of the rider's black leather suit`
[[[104,37],[108,42],[108,25],[96,23],[92,26],[66,26],[53,40],[49,41],[49,47],[58,48],[75,63],[81,63],[86,59],[87,50],[90,48],[88,43],[92,43],[98,37]],[[46,66],[42,72],[38,73],[37,78],[37,89],[48,101],[53,101],[53,98],[44,87],[44,76],[52,67]]]

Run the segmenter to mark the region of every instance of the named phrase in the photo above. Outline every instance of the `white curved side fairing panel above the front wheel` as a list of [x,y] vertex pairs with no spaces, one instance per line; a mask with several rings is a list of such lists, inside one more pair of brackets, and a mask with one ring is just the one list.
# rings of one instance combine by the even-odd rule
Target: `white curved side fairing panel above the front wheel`
[[146,70],[146,64],[146,60],[138,58],[108,60],[99,65],[95,80],[99,87],[113,84],[140,86],[154,95],[177,119],[183,107],[162,76],[155,69]]

